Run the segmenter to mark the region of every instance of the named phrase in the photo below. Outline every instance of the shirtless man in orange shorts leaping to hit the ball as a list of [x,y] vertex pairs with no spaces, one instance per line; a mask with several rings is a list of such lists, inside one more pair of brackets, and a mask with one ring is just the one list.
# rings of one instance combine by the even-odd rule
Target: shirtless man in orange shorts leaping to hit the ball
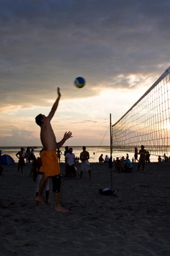
[[57,89],[57,92],[58,92],[58,98],[56,99],[53,107],[51,108],[49,115],[46,117],[42,114],[39,114],[38,116],[35,117],[35,122],[41,127],[40,138],[44,148],[44,150],[40,154],[40,157],[42,160],[42,166],[40,168],[40,172],[43,172],[43,177],[40,181],[40,189],[39,189],[38,196],[36,197],[36,201],[39,201],[41,202],[41,204],[44,204],[42,199],[42,192],[46,184],[46,181],[48,180],[48,177],[51,177],[53,181],[53,192],[55,197],[55,211],[69,212],[69,210],[66,210],[60,204],[61,177],[60,177],[60,166],[58,163],[58,156],[56,154],[56,149],[63,146],[64,142],[68,140],[70,137],[72,137],[71,136],[72,133],[70,131],[65,132],[63,139],[60,142],[56,142],[55,134],[51,127],[50,121],[55,114],[55,111],[58,107],[58,103],[61,97],[59,87]]

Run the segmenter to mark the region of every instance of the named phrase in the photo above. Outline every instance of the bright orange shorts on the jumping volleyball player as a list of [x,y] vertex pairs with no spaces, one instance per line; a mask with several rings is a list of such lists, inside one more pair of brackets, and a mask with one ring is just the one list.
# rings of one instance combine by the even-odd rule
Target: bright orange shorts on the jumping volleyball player
[[42,151],[40,157],[42,160],[40,172],[45,172],[47,177],[60,174],[60,165],[55,151]]

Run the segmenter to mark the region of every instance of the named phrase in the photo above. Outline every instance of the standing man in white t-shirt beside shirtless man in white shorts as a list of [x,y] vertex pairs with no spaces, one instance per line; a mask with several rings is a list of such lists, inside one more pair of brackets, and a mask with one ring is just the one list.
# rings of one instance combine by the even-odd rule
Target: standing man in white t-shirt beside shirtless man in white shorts
[[71,176],[76,176],[75,167],[76,167],[76,157],[73,154],[73,149],[69,148],[69,153],[65,155],[65,164],[67,166],[67,174],[69,180],[71,180]]

